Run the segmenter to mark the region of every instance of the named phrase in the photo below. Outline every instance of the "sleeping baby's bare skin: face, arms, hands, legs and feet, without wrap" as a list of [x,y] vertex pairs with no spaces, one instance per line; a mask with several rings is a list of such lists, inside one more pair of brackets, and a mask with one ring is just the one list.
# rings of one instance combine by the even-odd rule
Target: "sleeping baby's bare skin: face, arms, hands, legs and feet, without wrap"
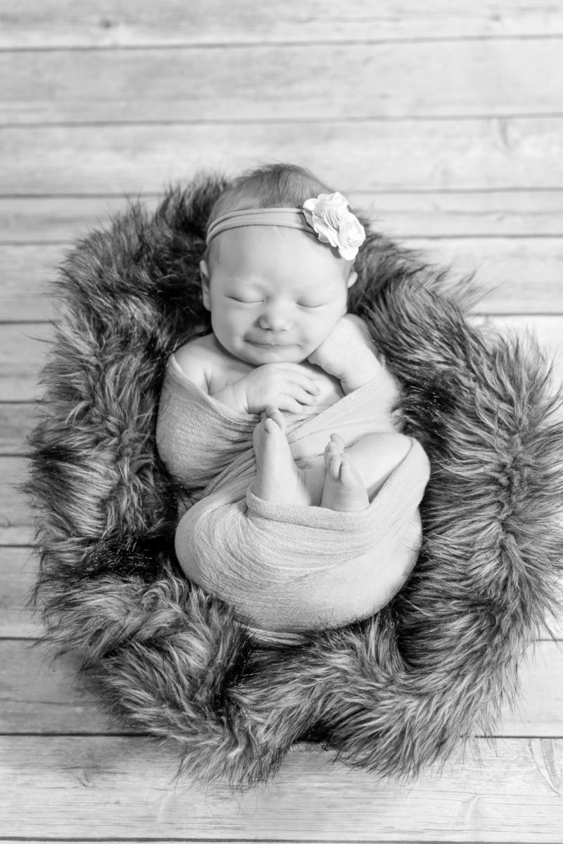
[[255,426],[256,477],[264,500],[362,510],[410,448],[396,432],[364,436],[348,449],[338,432],[324,464],[299,469],[281,411],[315,414],[382,369],[367,327],[346,314],[357,279],[351,261],[294,229],[248,226],[223,231],[201,262],[203,303],[212,334],[174,354],[190,381]]

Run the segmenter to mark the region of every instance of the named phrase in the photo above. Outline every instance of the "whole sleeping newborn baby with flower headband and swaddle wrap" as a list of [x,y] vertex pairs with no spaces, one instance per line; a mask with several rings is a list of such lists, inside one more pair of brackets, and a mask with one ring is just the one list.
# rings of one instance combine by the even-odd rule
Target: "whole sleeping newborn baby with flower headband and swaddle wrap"
[[[271,176],[274,168],[269,172]],[[365,236],[362,226],[339,193],[309,197],[303,211],[283,207],[279,200],[276,208],[256,207],[256,183],[267,175],[264,168],[242,184],[235,182],[213,208],[200,263],[202,300],[211,314],[212,333],[191,340],[170,360],[157,441],[171,473],[192,492],[198,481],[201,484],[196,498],[201,495],[203,500],[188,511],[176,536],[185,573],[231,603],[247,624],[257,625],[252,630],[263,635],[275,631],[279,637],[284,631],[291,635],[321,624],[340,625],[387,603],[416,561],[417,506],[428,467],[420,446],[394,430],[396,384],[378,360],[365,323],[346,312],[348,289],[357,280],[353,258]],[[307,182],[313,177],[306,171],[289,168],[284,176],[301,192],[310,192]],[[178,404],[182,389],[189,395],[184,408]],[[197,406],[201,425],[194,421]],[[324,432],[326,446],[319,454],[319,432],[330,424],[333,406],[335,420],[344,414],[342,427],[330,430],[330,437]],[[307,425],[316,415],[326,419],[323,425]],[[193,446],[209,436],[214,424],[217,432],[209,446],[194,452],[196,465],[185,441]],[[213,442],[231,436],[226,434],[231,424],[229,447],[214,447]],[[179,437],[182,425],[187,426],[184,446]],[[194,430],[188,430],[190,425]],[[300,445],[301,430],[308,432],[303,442],[308,442],[309,452]],[[405,458],[410,456],[413,463],[413,452],[416,478],[408,492],[398,488],[394,493],[395,506],[389,510],[393,541],[389,545],[388,537],[385,545],[373,534],[372,514],[362,522],[358,514],[371,511],[371,502]],[[233,457],[239,455],[237,468]],[[213,495],[218,495],[217,501]],[[398,517],[401,505],[406,521]],[[198,507],[213,519],[217,511],[224,513],[223,521],[202,527],[206,520]],[[326,522],[328,514],[321,514],[319,533],[314,508],[349,515]],[[292,534],[296,525],[301,529],[309,522],[312,545],[304,544],[305,557],[298,562]],[[280,524],[289,527],[287,535],[279,533]],[[339,526],[344,533],[355,532],[349,557],[362,571],[370,569],[370,578],[382,565],[373,561],[373,544],[379,543],[380,558],[387,553],[377,594],[373,580],[366,595],[361,578],[355,583],[354,576],[343,576],[344,570],[335,574],[341,549],[327,563],[326,543]],[[364,537],[363,544],[357,544],[358,536]],[[398,537],[404,547],[397,552]],[[223,544],[231,556],[228,563]],[[271,555],[276,554],[284,572],[281,581],[271,575]],[[389,555],[399,560],[398,566]],[[213,564],[216,557],[219,562]],[[309,565],[313,580],[307,583]],[[294,588],[296,576],[302,590]],[[292,585],[284,580],[288,577]],[[362,595],[350,600],[358,589]],[[331,601],[338,609],[331,609]]]

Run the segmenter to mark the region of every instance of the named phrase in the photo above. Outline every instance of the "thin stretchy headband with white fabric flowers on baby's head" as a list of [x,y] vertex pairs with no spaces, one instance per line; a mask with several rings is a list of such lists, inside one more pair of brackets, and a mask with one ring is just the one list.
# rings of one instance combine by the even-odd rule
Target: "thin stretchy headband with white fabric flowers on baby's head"
[[346,261],[357,256],[358,247],[366,240],[366,231],[348,208],[341,193],[320,193],[307,199],[303,208],[246,208],[231,211],[212,221],[207,229],[206,246],[228,229],[246,225],[278,225],[316,235],[321,243],[330,243]]

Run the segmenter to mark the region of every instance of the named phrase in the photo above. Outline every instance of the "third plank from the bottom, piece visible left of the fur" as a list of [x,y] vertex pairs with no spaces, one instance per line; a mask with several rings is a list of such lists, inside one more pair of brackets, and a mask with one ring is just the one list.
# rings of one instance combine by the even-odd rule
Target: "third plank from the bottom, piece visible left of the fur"
[[0,636],[33,639],[39,635],[39,625],[27,605],[37,565],[33,549],[0,547]]

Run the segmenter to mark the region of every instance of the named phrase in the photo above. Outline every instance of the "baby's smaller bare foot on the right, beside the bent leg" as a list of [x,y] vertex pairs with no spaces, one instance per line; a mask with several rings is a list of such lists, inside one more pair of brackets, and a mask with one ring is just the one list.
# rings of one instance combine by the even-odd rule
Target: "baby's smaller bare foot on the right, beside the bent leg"
[[320,506],[343,513],[366,510],[369,506],[366,487],[344,449],[342,437],[331,434],[330,443],[324,449],[326,476]]

